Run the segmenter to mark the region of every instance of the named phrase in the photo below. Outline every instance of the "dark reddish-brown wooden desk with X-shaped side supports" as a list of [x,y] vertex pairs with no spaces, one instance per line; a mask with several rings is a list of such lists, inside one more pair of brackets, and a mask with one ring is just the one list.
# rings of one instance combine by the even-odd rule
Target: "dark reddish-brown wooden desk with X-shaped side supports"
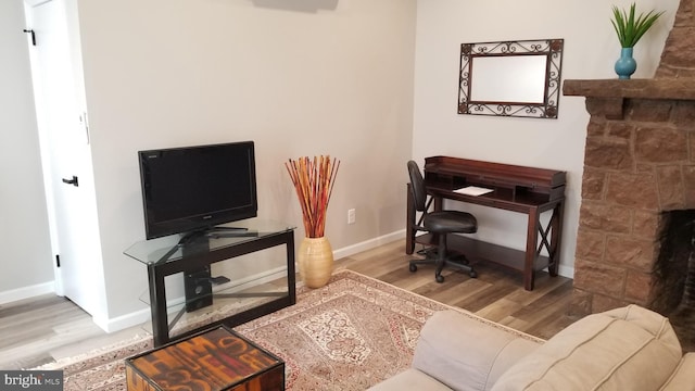
[[[425,185],[433,198],[434,210],[441,210],[443,200],[451,199],[528,215],[526,251],[458,235],[452,235],[448,240],[448,247],[453,251],[466,254],[472,262],[493,262],[520,272],[527,290],[533,289],[535,272],[547,267],[551,276],[557,276],[563,236],[565,177],[565,172],[560,171],[459,157],[431,156],[425,160]],[[489,188],[493,191],[482,195],[467,195],[454,191],[467,186]],[[437,245],[437,240],[429,234],[415,236],[416,230],[413,226],[416,212],[409,189],[407,198],[406,253],[412,254],[416,242]],[[540,216],[546,211],[553,211],[553,214],[544,227]],[[543,249],[547,255],[541,254]]]

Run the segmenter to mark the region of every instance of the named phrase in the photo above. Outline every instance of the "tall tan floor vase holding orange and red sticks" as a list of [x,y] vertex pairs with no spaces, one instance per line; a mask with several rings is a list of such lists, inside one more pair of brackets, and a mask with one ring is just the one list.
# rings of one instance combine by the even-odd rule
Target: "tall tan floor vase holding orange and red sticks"
[[340,161],[307,156],[285,163],[302,206],[305,238],[298,250],[300,278],[308,288],[328,283],[333,270],[333,251],[324,236],[328,202],[333,192]]

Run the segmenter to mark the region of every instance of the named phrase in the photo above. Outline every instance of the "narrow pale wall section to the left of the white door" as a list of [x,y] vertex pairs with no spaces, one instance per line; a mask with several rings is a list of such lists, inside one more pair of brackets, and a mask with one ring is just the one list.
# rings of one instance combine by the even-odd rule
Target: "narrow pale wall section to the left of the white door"
[[53,289],[22,0],[0,1],[0,304]]

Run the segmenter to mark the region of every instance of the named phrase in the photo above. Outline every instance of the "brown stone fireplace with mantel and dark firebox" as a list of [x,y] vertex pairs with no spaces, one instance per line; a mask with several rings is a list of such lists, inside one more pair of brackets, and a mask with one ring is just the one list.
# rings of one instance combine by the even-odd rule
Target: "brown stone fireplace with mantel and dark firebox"
[[[566,80],[563,92],[591,114],[570,313],[644,305],[693,350],[695,308],[681,303],[695,285],[695,0],[681,0],[655,78]],[[668,239],[673,222],[682,239]]]

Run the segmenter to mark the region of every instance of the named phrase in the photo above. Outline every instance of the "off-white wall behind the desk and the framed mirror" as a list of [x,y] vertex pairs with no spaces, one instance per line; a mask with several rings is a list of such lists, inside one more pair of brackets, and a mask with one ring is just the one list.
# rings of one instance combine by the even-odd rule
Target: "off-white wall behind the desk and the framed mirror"
[[[413,156],[453,155],[567,172],[567,203],[560,274],[572,276],[584,141],[584,99],[560,97],[558,119],[456,113],[459,45],[497,40],[564,38],[563,79],[616,78],[620,45],[610,25],[611,5],[630,1],[418,1]],[[635,78],[654,76],[678,0],[644,0],[637,10],[667,13],[635,46]],[[459,205],[460,206],[460,205]],[[523,249],[526,216],[460,206],[479,220],[478,237]],[[547,218],[547,216],[545,216]]]

